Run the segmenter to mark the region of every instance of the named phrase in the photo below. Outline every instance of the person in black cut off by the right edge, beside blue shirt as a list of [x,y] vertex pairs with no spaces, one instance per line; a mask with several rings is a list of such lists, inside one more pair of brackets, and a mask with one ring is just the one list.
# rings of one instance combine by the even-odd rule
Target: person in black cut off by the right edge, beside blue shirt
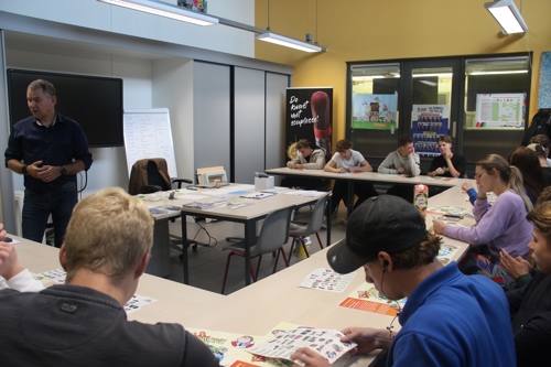
[[532,250],[538,272],[523,288],[507,292],[515,336],[517,366],[549,366],[551,345],[551,202],[537,205],[527,216],[533,225]]

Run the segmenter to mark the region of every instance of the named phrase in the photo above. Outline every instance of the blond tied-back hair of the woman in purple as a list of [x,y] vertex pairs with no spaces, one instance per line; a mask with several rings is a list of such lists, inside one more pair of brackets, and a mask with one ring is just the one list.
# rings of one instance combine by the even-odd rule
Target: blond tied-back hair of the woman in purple
[[505,158],[499,154],[489,154],[482,161],[476,162],[476,165],[480,166],[487,173],[491,173],[493,170],[496,170],[501,181],[507,184],[507,187],[522,197],[527,212],[532,209],[533,205],[526,194],[522,173],[520,173],[519,169],[515,165],[509,165]]

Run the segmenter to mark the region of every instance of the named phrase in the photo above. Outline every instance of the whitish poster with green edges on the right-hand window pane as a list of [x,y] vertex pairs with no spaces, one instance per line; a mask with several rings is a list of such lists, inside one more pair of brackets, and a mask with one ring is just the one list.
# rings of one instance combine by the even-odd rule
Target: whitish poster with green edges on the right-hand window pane
[[523,128],[526,94],[476,95],[476,128]]

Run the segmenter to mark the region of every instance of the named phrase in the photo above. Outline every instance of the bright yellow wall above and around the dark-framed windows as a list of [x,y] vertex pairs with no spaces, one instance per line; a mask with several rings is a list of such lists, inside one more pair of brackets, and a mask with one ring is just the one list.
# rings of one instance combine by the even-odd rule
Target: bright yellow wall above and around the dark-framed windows
[[[489,1],[489,0],[488,0]],[[520,1],[516,0],[520,9]],[[317,36],[316,36],[317,2]],[[268,3],[270,4],[268,11]],[[537,111],[541,52],[551,51],[551,0],[523,0],[528,35],[505,36],[485,0],[256,0],[256,26],[314,41],[307,54],[256,41],[256,57],[294,67],[293,87],[333,86],[334,141],[345,138],[346,62],[533,51],[530,114]]]

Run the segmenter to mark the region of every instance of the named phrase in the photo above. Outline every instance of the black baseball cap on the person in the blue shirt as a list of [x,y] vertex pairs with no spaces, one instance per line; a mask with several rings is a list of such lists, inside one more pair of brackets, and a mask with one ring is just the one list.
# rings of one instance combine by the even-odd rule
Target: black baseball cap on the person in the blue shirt
[[329,266],[349,273],[377,257],[379,251],[397,253],[418,245],[426,225],[413,204],[393,195],[374,196],[348,218],[346,237],[327,251]]

